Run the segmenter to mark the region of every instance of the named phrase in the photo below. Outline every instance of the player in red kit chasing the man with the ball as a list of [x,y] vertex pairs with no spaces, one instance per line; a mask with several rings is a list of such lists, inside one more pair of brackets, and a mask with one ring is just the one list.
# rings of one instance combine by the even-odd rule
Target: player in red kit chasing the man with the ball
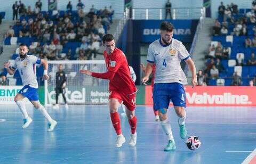
[[115,47],[114,36],[107,34],[103,36],[102,42],[105,47],[103,56],[108,71],[96,73],[89,70],[80,70],[80,72],[96,78],[109,79],[109,110],[111,121],[117,134],[116,147],[121,147],[125,142],[118,114],[118,106],[122,101],[126,106],[126,115],[131,126],[129,145],[135,146],[137,142],[137,118],[134,110],[137,88],[131,78],[129,65],[124,53]]

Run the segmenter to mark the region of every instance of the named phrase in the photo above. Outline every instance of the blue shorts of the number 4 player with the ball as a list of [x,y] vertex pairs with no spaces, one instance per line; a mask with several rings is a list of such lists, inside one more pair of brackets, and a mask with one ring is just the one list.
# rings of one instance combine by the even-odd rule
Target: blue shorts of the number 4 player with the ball
[[154,110],[168,109],[170,101],[173,106],[186,107],[186,93],[180,83],[157,83],[154,84],[153,92]]

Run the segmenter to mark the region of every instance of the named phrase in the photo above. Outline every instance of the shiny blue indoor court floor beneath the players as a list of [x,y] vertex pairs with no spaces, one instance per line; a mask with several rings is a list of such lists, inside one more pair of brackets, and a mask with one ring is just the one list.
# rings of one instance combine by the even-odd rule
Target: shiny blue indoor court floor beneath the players
[[[164,152],[167,138],[150,106],[137,106],[137,145],[128,146],[130,126],[122,118],[126,143],[115,147],[116,133],[107,105],[70,105],[53,110],[58,121],[47,132],[42,114],[27,107],[33,122],[22,129],[16,105],[0,105],[0,163],[242,163],[256,148],[256,108],[188,107],[188,136],[201,138],[196,151],[179,137],[174,110],[169,109],[177,149]],[[5,119],[6,121],[2,120]]]

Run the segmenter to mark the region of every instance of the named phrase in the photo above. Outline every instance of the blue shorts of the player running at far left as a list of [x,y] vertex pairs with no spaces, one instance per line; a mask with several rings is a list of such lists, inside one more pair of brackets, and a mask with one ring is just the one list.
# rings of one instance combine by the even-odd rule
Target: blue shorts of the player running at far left
[[19,94],[22,94],[24,97],[27,97],[29,101],[38,101],[37,88],[30,87],[25,85],[20,91]]

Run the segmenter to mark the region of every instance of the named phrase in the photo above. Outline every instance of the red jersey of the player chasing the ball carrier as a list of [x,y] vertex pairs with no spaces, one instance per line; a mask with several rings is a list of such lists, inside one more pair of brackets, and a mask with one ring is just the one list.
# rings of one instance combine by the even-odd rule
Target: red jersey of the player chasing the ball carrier
[[109,91],[117,91],[125,95],[131,95],[137,92],[137,88],[131,78],[128,62],[125,54],[115,48],[110,55],[103,52],[108,71],[115,72],[115,75],[109,81]]

